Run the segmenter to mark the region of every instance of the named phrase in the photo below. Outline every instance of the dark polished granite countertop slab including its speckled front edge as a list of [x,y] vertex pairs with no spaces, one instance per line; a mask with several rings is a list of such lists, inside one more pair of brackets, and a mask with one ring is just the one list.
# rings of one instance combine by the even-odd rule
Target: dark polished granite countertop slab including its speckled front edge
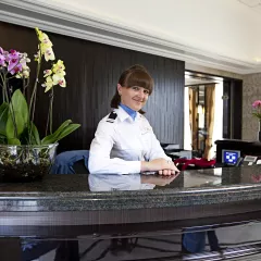
[[261,200],[261,166],[184,171],[179,175],[47,175],[0,183],[0,211],[84,211],[185,207]]

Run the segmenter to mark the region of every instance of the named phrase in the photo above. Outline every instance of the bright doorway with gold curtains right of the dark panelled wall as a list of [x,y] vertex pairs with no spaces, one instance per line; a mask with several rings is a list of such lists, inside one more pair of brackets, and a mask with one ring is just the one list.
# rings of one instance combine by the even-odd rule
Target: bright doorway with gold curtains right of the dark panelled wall
[[241,138],[241,86],[238,79],[185,72],[184,149],[210,160],[215,140]]

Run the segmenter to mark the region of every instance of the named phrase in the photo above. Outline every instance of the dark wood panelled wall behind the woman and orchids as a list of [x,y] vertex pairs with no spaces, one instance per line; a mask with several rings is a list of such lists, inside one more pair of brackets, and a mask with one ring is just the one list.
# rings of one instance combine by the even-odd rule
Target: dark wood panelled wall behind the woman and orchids
[[[4,49],[14,48],[30,57],[36,51],[37,40],[32,28],[0,22],[0,46]],[[66,119],[82,124],[80,129],[60,142],[60,150],[89,148],[98,122],[110,112],[110,100],[121,72],[136,63],[145,65],[154,78],[154,91],[145,111],[157,137],[161,142],[183,146],[184,62],[58,34],[48,35],[67,74],[67,87],[54,90],[53,125],[58,127]],[[36,123],[42,132],[48,97],[41,88],[38,98]]]

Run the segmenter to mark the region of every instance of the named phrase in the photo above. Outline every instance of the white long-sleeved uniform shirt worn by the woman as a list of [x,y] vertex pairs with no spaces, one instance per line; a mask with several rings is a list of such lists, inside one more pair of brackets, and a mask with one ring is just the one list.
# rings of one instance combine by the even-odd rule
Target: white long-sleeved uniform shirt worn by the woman
[[135,121],[121,107],[103,117],[90,145],[90,173],[140,173],[141,161],[171,160],[153,134],[148,120]]

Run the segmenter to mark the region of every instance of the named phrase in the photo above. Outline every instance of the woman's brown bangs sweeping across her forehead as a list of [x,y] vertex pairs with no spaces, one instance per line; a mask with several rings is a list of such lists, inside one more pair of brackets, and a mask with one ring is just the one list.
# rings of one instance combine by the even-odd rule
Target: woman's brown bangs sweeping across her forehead
[[151,95],[153,90],[153,79],[151,76],[145,71],[134,71],[128,77],[125,79],[124,85],[126,87],[139,86],[147,90]]

